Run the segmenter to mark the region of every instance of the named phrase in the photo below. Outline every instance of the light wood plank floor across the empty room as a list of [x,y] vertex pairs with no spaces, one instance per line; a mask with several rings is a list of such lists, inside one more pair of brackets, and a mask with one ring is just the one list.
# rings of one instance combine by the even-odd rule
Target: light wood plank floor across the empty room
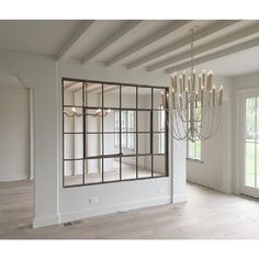
[[189,202],[31,228],[31,182],[0,183],[0,238],[259,238],[259,201],[188,184]]

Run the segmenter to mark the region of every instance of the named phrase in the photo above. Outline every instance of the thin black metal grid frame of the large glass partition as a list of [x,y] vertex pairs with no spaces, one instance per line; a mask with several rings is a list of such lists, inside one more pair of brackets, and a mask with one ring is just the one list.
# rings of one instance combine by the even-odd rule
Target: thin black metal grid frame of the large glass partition
[[[136,144],[136,154],[134,154],[134,155],[123,155],[122,154],[122,146],[120,145],[120,154],[117,155],[104,155],[103,154],[103,150],[102,150],[102,155],[101,156],[98,156],[98,157],[94,157],[94,158],[91,158],[91,159],[102,159],[102,181],[101,182],[92,182],[92,183],[87,183],[86,182],[86,173],[85,173],[85,164],[86,164],[86,160],[88,160],[88,159],[90,159],[89,157],[86,157],[85,155],[83,155],[83,158],[82,158],[82,164],[83,164],[83,169],[82,169],[82,178],[83,178],[83,180],[82,180],[82,183],[80,183],[80,184],[75,184],[75,185],[66,185],[65,184],[65,170],[64,170],[64,168],[65,168],[65,161],[66,160],[68,160],[68,159],[65,159],[64,158],[64,150],[65,150],[65,145],[64,145],[64,136],[65,136],[65,132],[64,132],[64,122],[65,122],[65,113],[63,112],[63,188],[75,188],[75,187],[83,187],[83,185],[93,185],[93,184],[105,184],[105,183],[111,183],[111,182],[121,182],[121,181],[136,181],[136,180],[145,180],[145,179],[155,179],[155,178],[164,178],[164,177],[169,177],[169,158],[168,158],[168,149],[169,149],[169,147],[168,147],[168,142],[166,142],[166,139],[168,139],[168,127],[167,127],[167,125],[166,125],[166,127],[165,127],[165,153],[164,154],[154,154],[153,153],[153,135],[154,135],[154,131],[153,131],[153,126],[150,127],[150,131],[149,131],[149,133],[150,133],[150,153],[148,153],[148,154],[138,154],[138,134],[139,133],[142,133],[142,132],[138,132],[137,131],[137,120],[138,120],[138,115],[137,115],[137,112],[138,111],[150,111],[150,125],[153,125],[153,111],[158,111],[158,109],[155,109],[154,106],[153,106],[153,103],[154,103],[154,89],[158,89],[158,90],[162,90],[162,91],[166,91],[166,92],[169,92],[169,88],[168,87],[158,87],[158,86],[144,86],[144,85],[130,85],[130,83],[121,83],[121,82],[108,82],[108,81],[95,81],[95,80],[86,80],[86,79],[74,79],[74,78],[61,78],[61,97],[63,97],[63,100],[61,100],[61,108],[63,108],[63,110],[61,111],[65,111],[65,109],[66,108],[68,108],[68,106],[70,106],[70,108],[72,108],[72,106],[78,106],[78,108],[82,108],[82,110],[83,110],[83,117],[85,117],[85,113],[86,113],[86,110],[87,109],[93,109],[93,106],[87,106],[87,105],[85,105],[85,103],[82,103],[82,105],[80,106],[80,105],[65,105],[64,104],[64,90],[65,90],[65,81],[70,81],[70,82],[81,82],[82,83],[82,92],[83,92],[83,97],[85,97],[85,91],[86,91],[86,87],[87,86],[85,86],[85,83],[100,83],[101,86],[102,86],[102,93],[101,93],[101,95],[102,95],[102,106],[101,106],[101,110],[102,110],[102,112],[104,111],[104,110],[106,110],[106,109],[110,109],[110,108],[104,108],[103,106],[103,99],[104,99],[104,94],[103,94],[103,86],[104,85],[116,85],[116,86],[119,86],[120,87],[120,108],[111,108],[112,110],[119,110],[120,111],[120,143],[121,143],[121,140],[122,140],[122,131],[121,131],[121,123],[122,123],[122,117],[121,117],[121,112],[123,111],[123,110],[131,110],[131,111],[135,111],[135,116],[136,117],[134,117],[134,121],[135,121],[135,123],[136,123],[136,125],[135,125],[135,130],[134,130],[134,132],[133,132],[133,134],[136,134],[135,136],[136,136],[136,139],[134,140],[135,142],[135,144]],[[123,87],[133,87],[133,88],[135,88],[136,89],[136,106],[135,108],[131,108],[131,109],[124,109],[123,106],[122,106],[122,88]],[[151,108],[150,109],[139,109],[138,108],[138,89],[139,88],[150,88],[151,89]],[[85,98],[83,98],[85,99]],[[166,110],[166,120],[168,120],[168,112],[167,112],[167,110]],[[83,122],[85,122],[85,120],[86,119],[83,119]],[[103,117],[101,119],[102,120],[102,130],[101,130],[101,134],[102,134],[102,147],[103,147],[103,134],[105,134],[104,133],[104,131],[103,131]],[[83,125],[85,125],[86,123],[83,123]],[[86,138],[86,134],[87,134],[88,132],[86,132],[86,128],[83,130],[83,137]],[[99,132],[100,133],[100,132]],[[113,133],[115,133],[115,128],[114,128],[114,132]],[[85,147],[86,146],[86,142],[83,140],[83,149],[86,148]],[[164,170],[164,172],[162,172],[162,174],[161,176],[155,176],[155,172],[154,172],[154,157],[157,157],[157,156],[164,156],[165,157],[165,170]],[[150,156],[150,158],[151,158],[151,169],[150,169],[150,171],[151,171],[151,176],[150,177],[146,177],[146,178],[139,178],[138,177],[138,159],[139,159],[139,157],[143,157],[143,156]],[[136,178],[134,178],[134,179],[122,179],[122,169],[121,169],[121,165],[122,165],[122,158],[124,158],[124,157],[135,157],[136,158]],[[119,158],[120,159],[120,180],[113,180],[113,181],[104,181],[103,179],[104,179],[104,170],[103,170],[103,159],[105,159],[105,158]],[[69,159],[69,160],[77,160],[77,159]]]

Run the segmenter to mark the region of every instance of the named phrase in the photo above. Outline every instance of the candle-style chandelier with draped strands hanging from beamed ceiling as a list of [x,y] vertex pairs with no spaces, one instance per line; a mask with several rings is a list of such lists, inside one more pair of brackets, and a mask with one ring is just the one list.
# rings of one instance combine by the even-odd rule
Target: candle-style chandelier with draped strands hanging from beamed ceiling
[[[193,69],[193,38],[198,27],[191,30],[190,75],[171,75],[169,94],[161,92],[162,106],[168,111],[172,126],[169,132],[178,140],[205,140],[215,135],[221,121],[223,87],[213,85],[212,71],[203,70],[196,77]],[[171,100],[170,105],[169,100]]]

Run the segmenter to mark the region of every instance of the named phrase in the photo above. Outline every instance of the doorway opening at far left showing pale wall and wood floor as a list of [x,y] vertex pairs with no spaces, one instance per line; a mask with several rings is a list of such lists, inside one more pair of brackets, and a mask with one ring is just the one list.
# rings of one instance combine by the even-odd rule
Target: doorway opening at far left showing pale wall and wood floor
[[0,76],[0,236],[34,217],[33,92]]

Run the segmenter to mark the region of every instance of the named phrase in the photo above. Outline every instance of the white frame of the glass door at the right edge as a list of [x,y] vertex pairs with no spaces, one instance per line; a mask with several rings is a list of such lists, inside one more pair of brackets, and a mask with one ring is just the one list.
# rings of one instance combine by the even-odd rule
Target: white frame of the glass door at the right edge
[[[251,88],[246,90],[238,91],[238,105],[237,105],[237,132],[239,136],[237,138],[239,148],[237,146],[238,156],[237,159],[239,160],[239,193],[258,198],[259,199],[259,189],[251,188],[245,185],[245,170],[246,170],[246,148],[245,148],[245,133],[246,133],[246,99],[247,98],[255,98],[259,97],[259,89]],[[238,112],[239,111],[239,112]],[[237,160],[237,161],[238,161]]]

